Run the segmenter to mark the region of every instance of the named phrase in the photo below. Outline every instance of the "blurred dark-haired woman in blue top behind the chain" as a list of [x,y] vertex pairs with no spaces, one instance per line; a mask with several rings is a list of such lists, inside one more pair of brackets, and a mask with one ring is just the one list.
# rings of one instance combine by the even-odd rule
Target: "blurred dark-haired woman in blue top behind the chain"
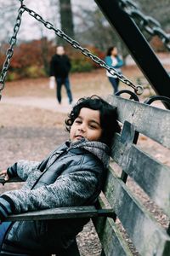
[[[117,73],[122,73],[121,67],[123,66],[123,61],[117,54],[117,48],[115,46],[111,46],[109,49],[107,49],[105,63],[109,67],[114,67]],[[116,75],[111,75],[111,73],[109,73],[108,71],[106,71],[106,75],[111,82],[114,93],[116,93],[118,91],[119,79],[116,78]]]

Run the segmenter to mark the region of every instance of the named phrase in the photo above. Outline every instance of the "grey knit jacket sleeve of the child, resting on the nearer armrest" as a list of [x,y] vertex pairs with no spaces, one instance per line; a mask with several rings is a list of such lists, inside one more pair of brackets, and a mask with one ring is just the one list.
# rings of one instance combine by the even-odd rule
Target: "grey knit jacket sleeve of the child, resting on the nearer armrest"
[[94,195],[98,187],[95,173],[80,170],[61,175],[50,185],[32,190],[13,190],[3,198],[14,206],[14,212],[35,211],[53,207],[81,206]]

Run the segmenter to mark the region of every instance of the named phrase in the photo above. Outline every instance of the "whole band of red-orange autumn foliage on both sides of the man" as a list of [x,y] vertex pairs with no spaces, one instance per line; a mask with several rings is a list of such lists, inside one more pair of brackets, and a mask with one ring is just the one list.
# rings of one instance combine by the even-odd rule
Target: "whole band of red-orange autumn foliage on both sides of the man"
[[[3,44],[0,52],[0,67],[3,67],[5,53],[8,49],[8,44]],[[38,78],[48,76],[49,62],[55,53],[56,45],[47,38],[41,40],[33,40],[31,42],[21,43],[14,46],[14,55],[10,61],[8,70],[8,80],[22,78]],[[104,54],[92,46],[87,48],[99,58],[104,58]],[[71,58],[72,72],[88,72],[99,67],[90,58],[82,55],[82,53],[73,49],[70,45],[65,45],[66,54]]]

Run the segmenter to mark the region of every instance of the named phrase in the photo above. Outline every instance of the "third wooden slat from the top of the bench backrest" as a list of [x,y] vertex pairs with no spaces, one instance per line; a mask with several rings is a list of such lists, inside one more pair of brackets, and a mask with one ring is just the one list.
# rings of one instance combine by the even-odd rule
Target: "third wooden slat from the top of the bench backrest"
[[164,255],[165,247],[170,250],[170,236],[166,230],[156,223],[111,169],[105,188],[107,200],[141,255]]

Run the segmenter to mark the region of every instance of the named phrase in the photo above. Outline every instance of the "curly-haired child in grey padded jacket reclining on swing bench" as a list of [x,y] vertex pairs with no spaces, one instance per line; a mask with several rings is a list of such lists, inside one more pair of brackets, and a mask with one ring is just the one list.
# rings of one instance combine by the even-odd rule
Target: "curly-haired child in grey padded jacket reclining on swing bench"
[[[0,220],[11,213],[93,205],[105,180],[111,139],[120,131],[116,108],[98,96],[82,98],[65,120],[70,140],[40,162],[20,160],[0,172],[21,177],[22,189],[0,196]],[[1,253],[49,255],[71,247],[88,218],[3,223]],[[0,254],[1,254],[0,253]],[[15,253],[15,254],[14,254]],[[8,254],[7,254],[8,255]]]

